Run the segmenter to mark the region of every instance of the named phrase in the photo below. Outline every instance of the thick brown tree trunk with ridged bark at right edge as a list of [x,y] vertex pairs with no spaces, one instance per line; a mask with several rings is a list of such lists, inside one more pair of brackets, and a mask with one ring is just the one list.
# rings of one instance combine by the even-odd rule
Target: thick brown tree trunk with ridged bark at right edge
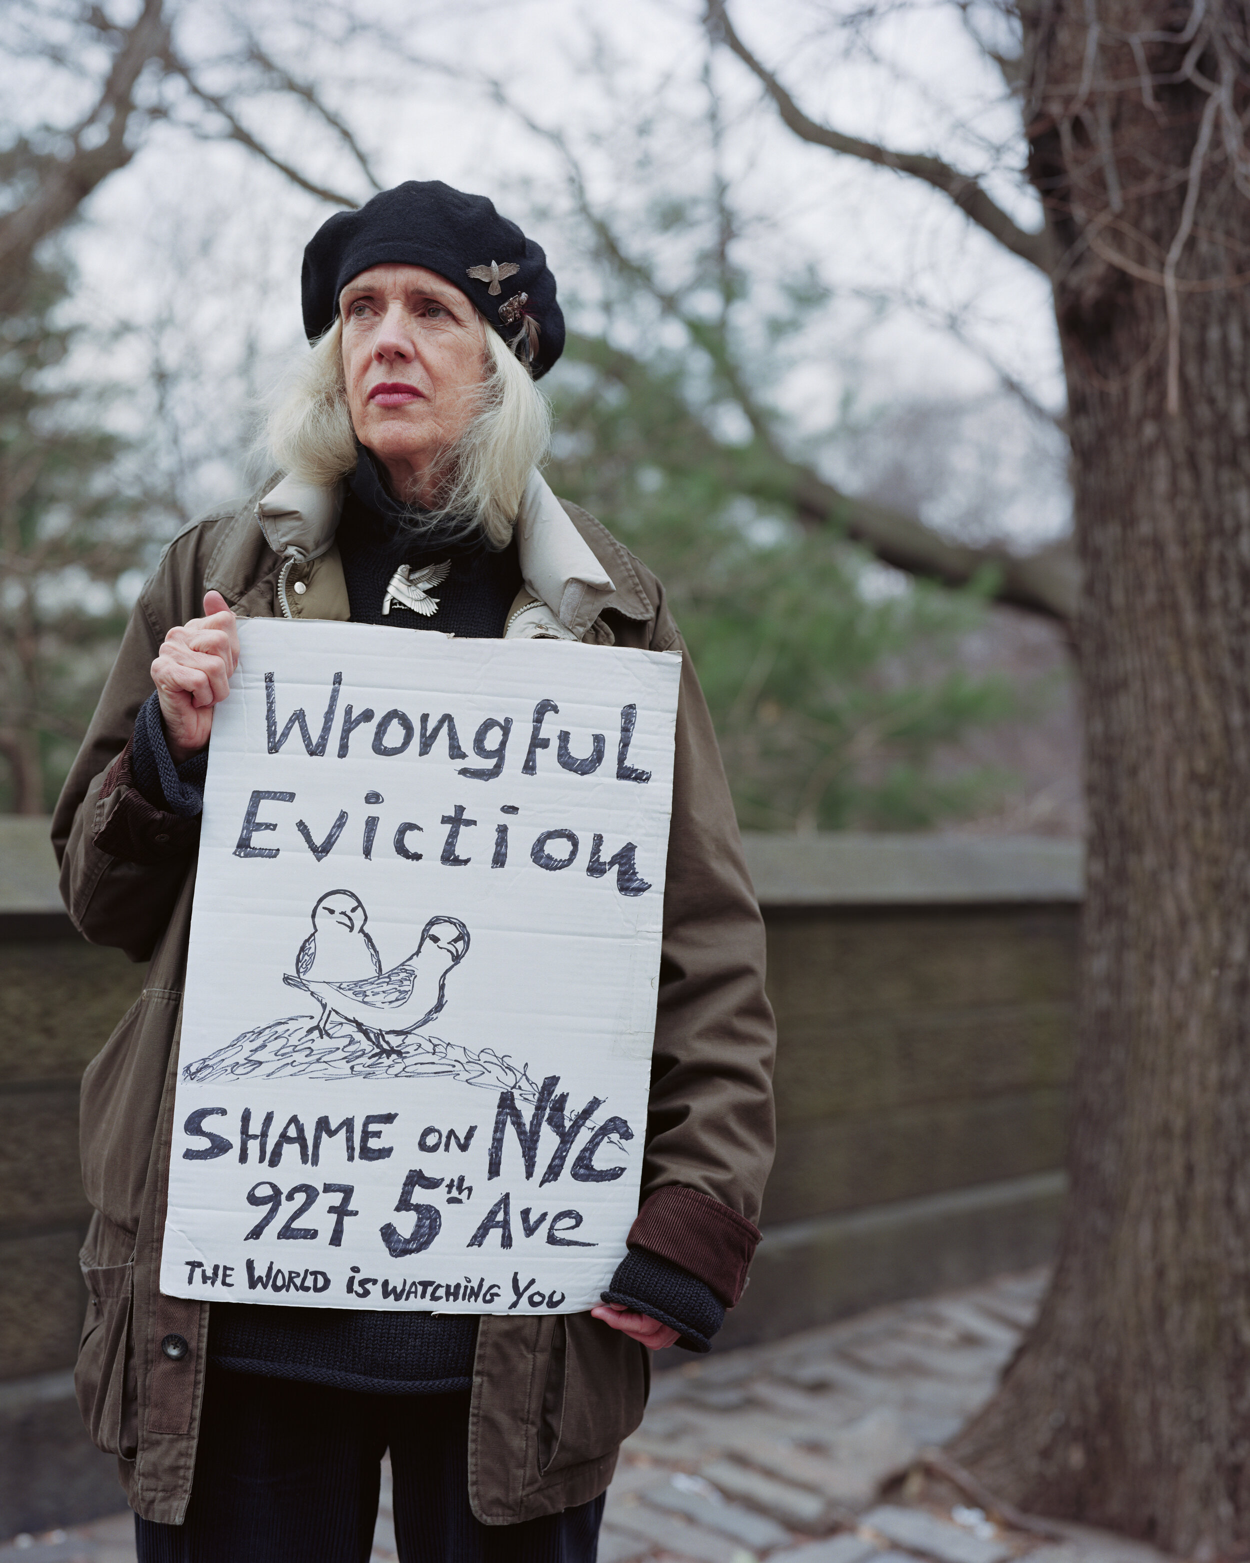
[[[1070,1202],[1039,1322],[952,1452],[1020,1507],[1228,1557],[1250,1543],[1250,202],[1208,86],[1245,111],[1247,8],[1208,8],[1173,84],[1202,38],[1128,34],[1188,5],[1103,0],[1097,52],[1091,16],[1025,19],[1083,575]],[[1214,283],[1177,292],[1170,342],[1169,250]]]

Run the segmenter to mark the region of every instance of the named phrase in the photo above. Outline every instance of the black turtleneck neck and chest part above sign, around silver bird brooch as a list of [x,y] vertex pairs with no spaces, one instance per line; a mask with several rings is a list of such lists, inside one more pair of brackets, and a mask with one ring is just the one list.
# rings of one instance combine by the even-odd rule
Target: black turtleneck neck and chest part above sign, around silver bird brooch
[[[394,624],[403,630],[442,630],[466,639],[497,639],[508,610],[520,591],[516,538],[506,549],[492,549],[480,531],[466,531],[459,520],[431,522],[419,510],[402,505],[361,449],[352,474],[338,531],[342,574],[353,624]],[[445,580],[431,586],[438,602],[430,617],[395,606],[383,613],[386,588],[395,570],[411,572],[450,564]]]

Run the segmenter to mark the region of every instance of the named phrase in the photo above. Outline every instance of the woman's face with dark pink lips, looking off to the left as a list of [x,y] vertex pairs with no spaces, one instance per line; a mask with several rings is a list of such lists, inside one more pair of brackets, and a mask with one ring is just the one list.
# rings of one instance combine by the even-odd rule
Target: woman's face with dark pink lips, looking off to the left
[[430,500],[438,458],[467,428],[486,369],[481,317],[423,266],[370,266],[339,295],[356,438],[405,499]]

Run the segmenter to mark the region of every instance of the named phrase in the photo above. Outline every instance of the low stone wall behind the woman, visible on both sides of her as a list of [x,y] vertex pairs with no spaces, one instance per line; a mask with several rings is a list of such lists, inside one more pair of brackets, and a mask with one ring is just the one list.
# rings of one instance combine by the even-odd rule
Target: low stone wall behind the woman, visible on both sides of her
[[[755,836],[781,1046],[766,1243],[725,1346],[1045,1258],[1078,849]],[[47,822],[0,819],[0,1536],[119,1502],[72,1366],[77,1082],[142,967],[73,935]]]

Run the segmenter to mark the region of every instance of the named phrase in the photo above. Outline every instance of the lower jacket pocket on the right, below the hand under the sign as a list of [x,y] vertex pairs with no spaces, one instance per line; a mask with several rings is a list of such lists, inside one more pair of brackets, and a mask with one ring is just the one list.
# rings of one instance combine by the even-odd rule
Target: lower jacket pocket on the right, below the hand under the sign
[[561,1314],[555,1325],[538,1440],[542,1479],[612,1454],[642,1421],[652,1377],[647,1347],[589,1313]]

